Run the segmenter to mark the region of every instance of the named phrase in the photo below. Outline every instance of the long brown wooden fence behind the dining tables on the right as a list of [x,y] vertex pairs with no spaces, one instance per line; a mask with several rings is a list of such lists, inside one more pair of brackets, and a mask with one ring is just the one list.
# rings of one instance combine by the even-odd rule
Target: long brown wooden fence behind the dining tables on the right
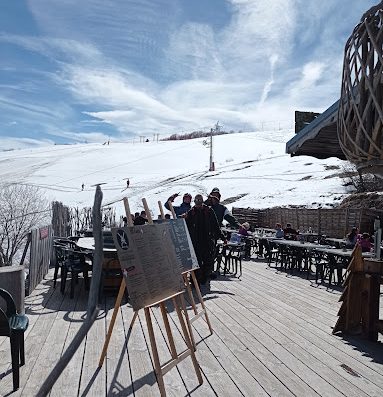
[[306,209],[306,208],[237,208],[233,207],[233,215],[240,223],[249,222],[252,228],[274,228],[276,223],[291,223],[300,231],[311,228],[314,232],[331,237],[343,238],[353,226],[360,231],[372,234],[374,220],[383,220],[382,210],[361,208],[343,209]]

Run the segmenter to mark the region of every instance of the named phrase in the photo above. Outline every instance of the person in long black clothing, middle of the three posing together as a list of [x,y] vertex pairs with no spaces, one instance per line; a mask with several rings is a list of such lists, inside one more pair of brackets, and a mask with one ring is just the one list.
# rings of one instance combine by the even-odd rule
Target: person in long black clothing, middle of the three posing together
[[201,194],[195,196],[194,204],[185,219],[200,266],[196,277],[200,284],[205,284],[213,271],[215,246],[221,237],[221,229],[214,211],[203,203]]

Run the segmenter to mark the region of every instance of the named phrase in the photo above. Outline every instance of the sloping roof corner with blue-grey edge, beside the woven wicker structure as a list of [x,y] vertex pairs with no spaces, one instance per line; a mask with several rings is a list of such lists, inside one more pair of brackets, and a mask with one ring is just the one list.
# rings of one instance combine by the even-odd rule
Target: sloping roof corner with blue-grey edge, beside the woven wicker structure
[[339,100],[290,139],[286,143],[286,153],[292,156],[312,156],[318,159],[338,157],[345,160],[337,135],[338,106]]

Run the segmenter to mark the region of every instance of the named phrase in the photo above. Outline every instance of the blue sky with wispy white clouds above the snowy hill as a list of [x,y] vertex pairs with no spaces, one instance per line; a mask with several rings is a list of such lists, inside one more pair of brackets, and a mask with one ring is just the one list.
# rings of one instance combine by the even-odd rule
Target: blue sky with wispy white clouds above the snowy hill
[[0,149],[291,128],[339,97],[366,0],[2,0]]

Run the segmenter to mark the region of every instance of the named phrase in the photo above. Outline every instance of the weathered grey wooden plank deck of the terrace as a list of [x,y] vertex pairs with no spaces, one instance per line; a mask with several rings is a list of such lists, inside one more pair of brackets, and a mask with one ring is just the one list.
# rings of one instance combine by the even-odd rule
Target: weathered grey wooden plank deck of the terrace
[[[193,323],[204,383],[190,358],[168,372],[168,396],[383,396],[383,345],[331,334],[339,291],[244,262],[241,280],[220,277],[205,291],[214,334],[202,318]],[[143,313],[131,332],[129,305],[119,311],[101,370],[97,364],[114,306],[108,297],[86,340],[51,396],[158,396]],[[0,395],[34,396],[81,326],[87,295],[75,299],[52,287],[52,274],[26,299],[30,327],[21,387],[12,393],[9,340],[0,339]],[[174,312],[176,346],[183,348]],[[153,310],[160,357],[170,359],[159,310]],[[382,317],[382,316],[381,316]]]

